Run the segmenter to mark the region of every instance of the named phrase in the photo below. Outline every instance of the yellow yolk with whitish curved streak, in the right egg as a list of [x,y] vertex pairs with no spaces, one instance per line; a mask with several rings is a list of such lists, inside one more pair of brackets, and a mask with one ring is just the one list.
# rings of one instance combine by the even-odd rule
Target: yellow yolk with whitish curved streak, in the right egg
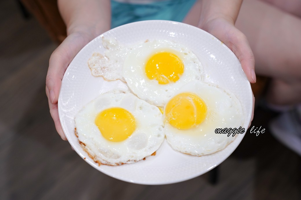
[[166,105],[165,116],[173,127],[187,130],[202,123],[207,114],[205,102],[197,95],[185,92],[174,96]]

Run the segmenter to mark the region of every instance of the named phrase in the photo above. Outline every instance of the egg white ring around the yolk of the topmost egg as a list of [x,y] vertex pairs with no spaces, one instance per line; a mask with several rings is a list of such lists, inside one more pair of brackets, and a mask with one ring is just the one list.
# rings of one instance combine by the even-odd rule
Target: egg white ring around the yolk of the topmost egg
[[[145,63],[158,52],[177,55],[184,64],[184,73],[175,83],[159,84],[150,80],[145,73]],[[184,45],[166,40],[144,42],[129,51],[123,65],[123,77],[129,88],[139,98],[156,106],[164,106],[179,87],[191,80],[203,80],[203,66],[197,56]]]

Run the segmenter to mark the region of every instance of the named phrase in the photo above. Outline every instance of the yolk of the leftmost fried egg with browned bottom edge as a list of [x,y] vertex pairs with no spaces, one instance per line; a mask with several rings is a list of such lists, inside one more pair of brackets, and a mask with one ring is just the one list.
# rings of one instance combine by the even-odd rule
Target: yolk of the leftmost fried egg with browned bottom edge
[[123,108],[108,108],[100,112],[95,124],[103,137],[113,142],[125,140],[136,128],[134,116]]

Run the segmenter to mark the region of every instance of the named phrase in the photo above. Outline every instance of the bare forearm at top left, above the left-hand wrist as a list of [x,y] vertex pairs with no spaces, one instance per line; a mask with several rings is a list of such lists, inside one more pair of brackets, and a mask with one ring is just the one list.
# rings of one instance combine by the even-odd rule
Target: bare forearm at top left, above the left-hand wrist
[[110,29],[110,0],[58,0],[67,35],[85,32],[91,38]]

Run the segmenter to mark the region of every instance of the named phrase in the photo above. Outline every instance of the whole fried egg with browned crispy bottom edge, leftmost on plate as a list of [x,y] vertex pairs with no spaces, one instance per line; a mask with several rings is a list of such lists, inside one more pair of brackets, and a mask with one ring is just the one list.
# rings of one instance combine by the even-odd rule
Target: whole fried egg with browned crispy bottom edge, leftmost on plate
[[[122,90],[103,93],[85,105],[76,114],[75,126],[83,149],[95,162],[105,165],[144,159],[160,147],[165,137],[159,108]],[[128,133],[130,129],[132,133]]]

